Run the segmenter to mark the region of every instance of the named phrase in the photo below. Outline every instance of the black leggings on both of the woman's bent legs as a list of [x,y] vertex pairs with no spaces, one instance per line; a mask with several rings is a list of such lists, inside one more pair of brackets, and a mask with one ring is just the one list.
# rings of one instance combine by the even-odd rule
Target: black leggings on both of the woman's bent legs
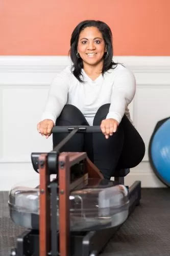
[[[102,105],[96,112],[93,125],[101,125],[109,112],[110,104]],[[56,125],[89,125],[82,112],[74,105],[65,105]],[[67,134],[53,134],[55,147]],[[145,145],[135,127],[124,115],[118,129],[109,139],[104,134],[75,134],[61,152],[86,152],[89,159],[101,170],[105,179],[110,179],[119,168],[132,168],[144,157]]]

